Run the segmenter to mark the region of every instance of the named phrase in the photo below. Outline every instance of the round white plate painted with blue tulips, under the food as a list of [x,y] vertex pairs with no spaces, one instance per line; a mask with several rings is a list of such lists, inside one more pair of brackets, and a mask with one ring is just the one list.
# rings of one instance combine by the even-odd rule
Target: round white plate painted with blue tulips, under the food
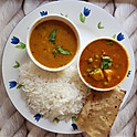
[[[91,10],[91,12],[86,12],[86,15],[84,14],[84,8]],[[120,42],[125,45],[126,50],[129,53],[129,73],[126,77],[126,80],[120,84],[120,87],[127,91],[126,96],[124,98],[124,102],[122,106],[125,104],[128,95],[130,94],[130,88],[134,81],[135,75],[135,59],[134,59],[134,52],[129,42],[129,39],[127,38],[127,34],[123,30],[123,27],[105,10],[88,3],[88,2],[82,2],[82,1],[61,1],[61,2],[50,2],[44,6],[41,6],[40,8],[35,9],[34,11],[30,12],[27,17],[24,17],[18,25],[13,29],[11,32],[3,51],[2,56],[2,76],[3,76],[3,83],[6,86],[6,91],[15,106],[15,108],[31,123],[34,125],[55,133],[62,133],[62,134],[77,134],[80,130],[73,130],[71,124],[72,120],[70,119],[66,122],[60,122],[59,124],[50,123],[48,119],[41,118],[39,122],[36,122],[33,117],[33,115],[30,113],[29,108],[25,105],[25,102],[21,98],[20,89],[15,87],[10,88],[9,82],[18,82],[18,68],[14,68],[13,65],[15,65],[15,61],[18,61],[20,64],[24,63],[25,61],[30,60],[28,57],[25,49],[17,49],[15,46],[19,44],[11,43],[12,38],[17,36],[20,42],[25,43],[25,36],[28,29],[30,24],[38,18],[41,18],[41,13],[43,12],[43,15],[46,14],[63,14],[66,15],[68,19],[71,19],[78,28],[81,33],[81,40],[82,40],[82,46],[84,48],[89,41],[92,41],[95,38],[99,36],[113,36],[116,35],[115,39],[117,39],[117,35],[122,33],[124,35],[124,40],[120,38]],[[89,14],[88,14],[89,13]],[[81,15],[80,15],[81,14]],[[80,17],[83,17],[85,20],[84,22],[81,21]],[[104,27],[102,29],[98,29],[98,22],[101,22],[101,27]],[[123,35],[120,35],[123,38]],[[118,39],[118,40],[119,40]],[[15,84],[15,83],[12,83]]]

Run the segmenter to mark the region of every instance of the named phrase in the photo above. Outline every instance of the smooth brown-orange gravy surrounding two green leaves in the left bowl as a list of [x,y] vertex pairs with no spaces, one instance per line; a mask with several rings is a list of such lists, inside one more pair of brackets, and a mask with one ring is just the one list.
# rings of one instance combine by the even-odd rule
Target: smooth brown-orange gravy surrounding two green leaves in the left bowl
[[[55,44],[49,36],[56,29]],[[71,54],[54,54],[56,46],[70,51]],[[51,68],[66,65],[74,57],[77,50],[77,40],[73,30],[64,22],[49,20],[34,28],[30,36],[30,50],[34,59],[42,65]]]

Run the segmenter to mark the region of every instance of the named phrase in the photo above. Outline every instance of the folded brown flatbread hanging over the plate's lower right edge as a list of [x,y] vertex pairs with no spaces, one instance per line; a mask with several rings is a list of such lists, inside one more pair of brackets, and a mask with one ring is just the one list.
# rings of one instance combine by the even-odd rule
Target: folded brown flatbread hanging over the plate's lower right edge
[[92,89],[76,119],[78,128],[85,130],[91,137],[107,137],[125,93],[118,87],[108,92]]

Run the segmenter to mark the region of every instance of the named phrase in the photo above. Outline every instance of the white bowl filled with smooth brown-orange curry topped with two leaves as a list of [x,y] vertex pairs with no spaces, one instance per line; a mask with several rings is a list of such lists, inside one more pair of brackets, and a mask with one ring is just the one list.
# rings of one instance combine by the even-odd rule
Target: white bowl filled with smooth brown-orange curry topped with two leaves
[[27,51],[41,68],[56,72],[70,66],[80,51],[80,32],[66,17],[49,14],[29,29]]

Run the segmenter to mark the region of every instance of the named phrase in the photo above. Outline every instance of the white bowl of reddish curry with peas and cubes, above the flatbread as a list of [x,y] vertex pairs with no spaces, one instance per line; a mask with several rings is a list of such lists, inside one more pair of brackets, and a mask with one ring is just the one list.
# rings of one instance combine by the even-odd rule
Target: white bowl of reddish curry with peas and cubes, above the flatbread
[[82,50],[77,68],[80,77],[88,87],[109,91],[118,86],[127,76],[129,56],[118,41],[99,38]]

